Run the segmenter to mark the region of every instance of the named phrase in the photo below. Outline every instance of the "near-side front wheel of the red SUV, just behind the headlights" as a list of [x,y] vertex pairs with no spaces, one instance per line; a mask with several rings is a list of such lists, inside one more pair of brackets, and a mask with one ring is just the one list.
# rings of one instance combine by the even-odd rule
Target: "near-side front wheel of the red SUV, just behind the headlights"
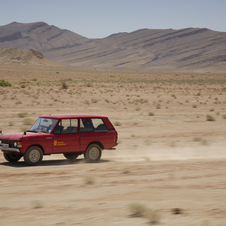
[[31,146],[24,154],[24,161],[27,165],[36,166],[43,158],[42,149],[38,146]]

